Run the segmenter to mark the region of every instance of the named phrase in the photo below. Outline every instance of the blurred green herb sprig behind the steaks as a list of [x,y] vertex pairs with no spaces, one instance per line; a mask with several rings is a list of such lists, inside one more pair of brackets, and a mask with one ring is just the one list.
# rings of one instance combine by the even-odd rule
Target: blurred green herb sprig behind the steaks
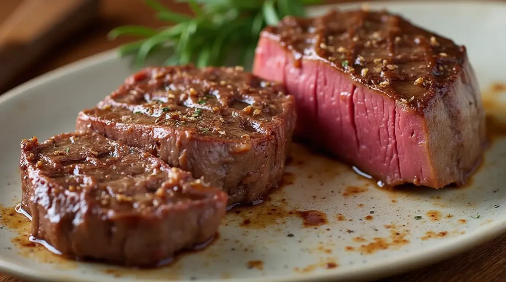
[[275,25],[288,15],[304,17],[304,6],[320,0],[179,0],[188,3],[194,17],[173,12],[157,0],[145,2],[156,18],[172,25],[157,30],[134,25],[113,29],[110,39],[121,35],[141,38],[120,46],[119,53],[136,54],[136,62],[143,64],[155,50],[171,47],[174,53],[165,65],[204,67],[221,66],[235,52],[242,64],[251,62],[266,25]]

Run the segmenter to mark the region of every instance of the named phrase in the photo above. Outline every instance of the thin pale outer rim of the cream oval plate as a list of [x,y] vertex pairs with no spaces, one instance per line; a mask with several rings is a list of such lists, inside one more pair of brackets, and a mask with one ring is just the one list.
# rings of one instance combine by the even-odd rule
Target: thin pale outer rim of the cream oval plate
[[[399,0],[394,0],[396,4],[406,4],[409,5],[412,2],[404,2]],[[452,3],[456,4],[453,1],[434,1],[435,3]],[[486,0],[486,1],[470,1],[470,0],[461,0],[459,3],[462,4],[476,4],[476,5],[490,5],[490,6],[506,6],[506,3],[499,2],[496,0]],[[387,4],[386,2],[374,2],[374,4]],[[389,2],[391,4],[391,2]],[[349,7],[360,5],[359,3],[345,3],[340,7]],[[326,7],[336,7],[336,5],[325,5]],[[321,7],[325,7],[321,6]],[[38,85],[48,83],[54,79],[65,76],[68,73],[76,72],[82,69],[90,68],[94,65],[104,64],[111,60],[117,60],[118,56],[116,54],[116,49],[107,50],[91,57],[87,57],[76,61],[74,63],[68,64],[66,66],[60,67],[53,71],[50,71],[44,75],[36,77],[28,82],[25,82],[14,89],[0,95],[0,104],[7,102],[10,99],[13,99],[17,96],[27,95],[26,93],[28,89],[37,87]],[[445,245],[436,244],[425,248],[423,251],[418,251],[416,257],[413,257],[411,254],[403,254],[397,257],[395,260],[389,260],[388,262],[378,261],[367,267],[364,266],[347,266],[345,271],[340,273],[333,273],[332,271],[328,271],[326,273],[318,273],[318,274],[299,274],[297,276],[291,275],[279,275],[279,276],[271,276],[271,278],[238,278],[238,279],[228,279],[229,281],[237,281],[237,282],[250,282],[250,281],[259,281],[264,279],[269,279],[271,281],[330,281],[335,279],[346,279],[346,280],[367,280],[370,277],[374,277],[374,279],[384,278],[386,276],[391,276],[395,274],[399,274],[402,272],[407,272],[409,270],[413,270],[416,268],[421,268],[430,264],[434,264],[440,262],[442,260],[448,259],[452,256],[461,254],[463,252],[469,251],[473,248],[476,248],[480,245],[484,245],[485,243],[498,238],[501,235],[506,234],[506,220],[493,221],[487,223],[486,228],[480,230],[479,232],[471,232],[465,235],[459,236],[452,241],[446,243]],[[56,271],[50,272],[42,272],[39,270],[31,269],[28,267],[20,266],[16,263],[12,263],[6,261],[3,257],[0,257],[0,270],[3,273],[15,275],[17,277],[22,277],[24,279],[36,280],[36,281],[79,281],[79,282],[91,282],[93,280],[89,279],[80,279],[80,278],[70,278],[65,274],[56,274]],[[69,280],[71,279],[71,280]],[[116,281],[112,277],[104,276],[102,281]],[[151,280],[150,281],[158,281]],[[160,280],[161,281],[161,280]],[[206,281],[218,281],[218,280],[206,280]]]

